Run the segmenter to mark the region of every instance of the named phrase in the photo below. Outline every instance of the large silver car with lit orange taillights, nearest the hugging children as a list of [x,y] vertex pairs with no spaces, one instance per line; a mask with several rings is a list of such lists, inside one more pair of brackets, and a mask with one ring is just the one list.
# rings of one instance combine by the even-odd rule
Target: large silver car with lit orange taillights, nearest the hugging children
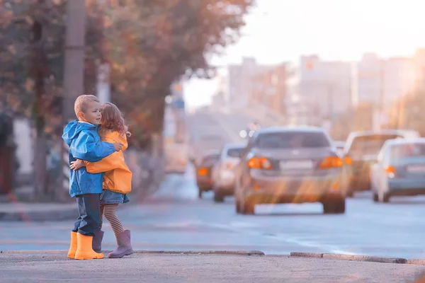
[[322,128],[260,129],[237,167],[236,211],[254,214],[256,204],[322,202],[324,213],[344,213],[342,167]]

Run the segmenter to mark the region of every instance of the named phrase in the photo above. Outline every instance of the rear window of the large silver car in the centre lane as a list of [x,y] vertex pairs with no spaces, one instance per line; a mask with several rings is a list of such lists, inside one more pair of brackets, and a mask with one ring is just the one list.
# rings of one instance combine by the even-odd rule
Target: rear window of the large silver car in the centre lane
[[329,140],[323,132],[285,131],[259,134],[256,147],[260,149],[294,149],[328,147]]

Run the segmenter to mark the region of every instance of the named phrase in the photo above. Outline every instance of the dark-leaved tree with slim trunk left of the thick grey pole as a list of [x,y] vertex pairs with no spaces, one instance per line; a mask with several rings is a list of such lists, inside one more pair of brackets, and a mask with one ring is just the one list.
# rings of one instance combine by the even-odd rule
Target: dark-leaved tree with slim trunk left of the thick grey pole
[[[47,141],[62,134],[64,13],[66,1],[0,2],[0,99],[35,129],[35,198],[48,199]],[[96,30],[92,21],[88,35]],[[93,52],[87,52],[91,55]],[[93,58],[92,56],[89,58]],[[87,65],[91,60],[87,60]],[[90,68],[86,68],[91,71]],[[96,75],[89,75],[92,86]]]

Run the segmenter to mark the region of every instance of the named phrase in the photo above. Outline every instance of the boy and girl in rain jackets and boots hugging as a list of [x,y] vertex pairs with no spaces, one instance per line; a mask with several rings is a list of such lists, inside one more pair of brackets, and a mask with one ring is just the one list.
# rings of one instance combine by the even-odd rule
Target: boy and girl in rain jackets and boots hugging
[[130,136],[120,110],[113,103],[101,105],[96,96],[75,100],[78,120],[69,122],[62,139],[69,146],[69,195],[77,199],[79,217],[71,231],[68,258],[103,258],[102,219],[108,219],[118,247],[108,258],[133,253],[130,231],[124,230],[116,215],[118,204],[129,202],[132,172],[123,151]]

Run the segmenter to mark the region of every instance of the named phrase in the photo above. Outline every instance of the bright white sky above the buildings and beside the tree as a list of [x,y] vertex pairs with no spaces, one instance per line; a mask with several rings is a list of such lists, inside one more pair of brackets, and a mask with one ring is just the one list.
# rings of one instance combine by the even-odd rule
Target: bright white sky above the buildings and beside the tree
[[[257,0],[246,16],[244,36],[212,64],[294,62],[301,54],[357,60],[364,52],[410,56],[425,47],[424,0]],[[225,69],[220,69],[221,72]],[[217,80],[191,79],[188,108],[210,103]]]

